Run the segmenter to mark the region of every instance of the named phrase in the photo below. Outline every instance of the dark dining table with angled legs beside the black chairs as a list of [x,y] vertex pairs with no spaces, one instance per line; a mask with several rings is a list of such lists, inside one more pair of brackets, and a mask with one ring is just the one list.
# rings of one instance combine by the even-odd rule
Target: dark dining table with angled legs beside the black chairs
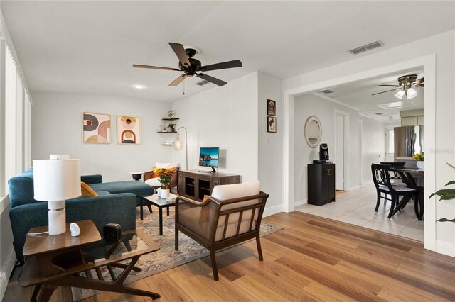
[[[403,183],[410,189],[417,190],[419,192],[418,200],[414,200],[414,211],[415,215],[417,216],[417,220],[422,220],[424,216],[424,186],[423,181],[419,181],[420,179],[423,180],[424,177],[424,170],[411,168],[411,167],[390,167],[390,171],[397,172],[397,174],[402,179]],[[406,204],[410,201],[410,197],[403,197],[400,203],[398,203],[397,207],[393,211],[392,215],[395,215],[397,211],[400,211],[402,208],[406,206]]]

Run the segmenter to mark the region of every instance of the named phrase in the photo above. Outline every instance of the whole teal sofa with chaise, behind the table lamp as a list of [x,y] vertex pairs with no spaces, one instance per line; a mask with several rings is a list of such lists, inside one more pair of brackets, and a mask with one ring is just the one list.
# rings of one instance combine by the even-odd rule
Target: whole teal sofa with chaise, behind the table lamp
[[[141,181],[102,182],[102,176],[86,175],[81,181],[89,184],[99,196],[73,198],[66,201],[66,221],[92,220],[102,234],[106,223],[119,223],[122,230],[136,228],[136,206],[139,196],[150,196],[153,188]],[[8,181],[13,230],[13,246],[19,262],[23,262],[23,245],[31,228],[48,225],[48,203],[33,198],[33,168]]]

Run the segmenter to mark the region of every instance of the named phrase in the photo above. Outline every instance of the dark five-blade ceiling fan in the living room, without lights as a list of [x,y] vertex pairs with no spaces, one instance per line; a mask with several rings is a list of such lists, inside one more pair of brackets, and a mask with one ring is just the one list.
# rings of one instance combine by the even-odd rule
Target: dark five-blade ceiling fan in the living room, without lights
[[217,84],[218,86],[223,86],[228,84],[220,79],[215,77],[210,77],[208,74],[203,74],[201,72],[208,72],[210,70],[218,70],[218,69],[226,69],[226,68],[234,68],[234,67],[242,67],[242,62],[240,60],[232,60],[228,62],[221,62],[212,65],[205,65],[202,66],[199,60],[193,58],[196,55],[197,51],[193,48],[186,48],[183,45],[178,43],[169,42],[173,52],[176,53],[178,57],[178,69],[171,68],[171,67],[159,67],[159,66],[150,66],[150,65],[138,65],[133,64],[133,67],[136,68],[149,68],[149,69],[161,69],[161,70],[175,70],[176,72],[184,72],[181,74],[177,79],[174,79],[169,86],[177,86],[180,84],[186,77],[193,77],[196,74],[196,77],[200,79],[205,79],[208,82],[212,82],[213,84]]

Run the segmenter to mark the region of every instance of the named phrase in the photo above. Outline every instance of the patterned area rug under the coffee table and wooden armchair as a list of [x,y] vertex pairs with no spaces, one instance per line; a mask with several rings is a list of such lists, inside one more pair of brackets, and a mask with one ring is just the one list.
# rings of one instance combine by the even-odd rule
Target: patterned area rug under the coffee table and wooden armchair
[[[163,209],[163,235],[159,235],[159,211],[157,208],[152,207],[154,213],[150,213],[147,208],[144,208],[144,220],[139,219],[139,208],[137,211],[137,228],[143,228],[146,233],[151,235],[156,242],[160,245],[160,250],[142,255],[136,267],[141,268],[141,272],[130,272],[124,284],[128,284],[139,279],[164,272],[167,269],[178,267],[179,265],[206,257],[210,255],[209,251],[192,240],[183,233],[178,235],[178,251],[174,250],[174,208],[171,208],[169,216],[166,216],[166,209]],[[261,223],[261,236],[274,233],[282,228],[270,223]],[[120,271],[117,273],[119,274]],[[102,274],[106,281],[111,280],[109,272],[105,267],[102,268]],[[118,274],[116,274],[118,276]],[[92,276],[96,276],[95,271],[92,271]],[[102,291],[95,291],[92,289],[78,289],[72,288],[73,301],[80,301],[90,296],[95,296]]]

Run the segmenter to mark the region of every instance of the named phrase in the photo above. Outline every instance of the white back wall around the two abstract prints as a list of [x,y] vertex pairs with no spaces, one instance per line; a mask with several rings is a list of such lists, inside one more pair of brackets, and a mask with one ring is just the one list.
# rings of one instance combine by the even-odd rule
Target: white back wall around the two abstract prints
[[[34,92],[31,109],[33,160],[49,154],[80,158],[82,174],[102,174],[103,181],[132,180],[132,171],[149,171],[154,162],[171,160],[175,135],[156,133],[171,104],[123,96]],[[82,112],[111,115],[109,145],[82,142]],[[141,145],[117,145],[116,116],[141,118]]]

